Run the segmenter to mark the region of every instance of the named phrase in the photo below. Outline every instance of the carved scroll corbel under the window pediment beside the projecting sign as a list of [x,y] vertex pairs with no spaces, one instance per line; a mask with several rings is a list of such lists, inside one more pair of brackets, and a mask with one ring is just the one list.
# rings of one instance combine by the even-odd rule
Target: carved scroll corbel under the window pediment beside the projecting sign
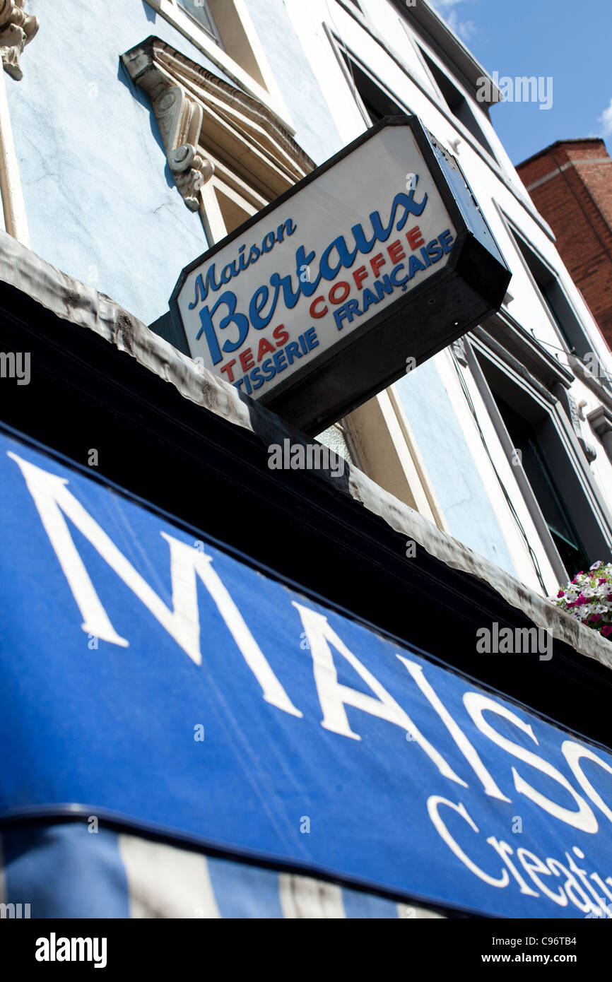
[[123,62],[133,81],[150,96],[168,166],[188,208],[197,211],[199,191],[214,172],[212,162],[198,150],[202,107],[153,61],[147,47],[130,57],[124,55]]

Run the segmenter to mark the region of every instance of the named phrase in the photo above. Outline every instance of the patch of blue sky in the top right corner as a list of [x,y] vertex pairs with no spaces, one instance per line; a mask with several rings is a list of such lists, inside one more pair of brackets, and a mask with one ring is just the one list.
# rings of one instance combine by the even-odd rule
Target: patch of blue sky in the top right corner
[[429,3],[488,72],[552,77],[550,109],[531,102],[491,107],[514,164],[573,136],[602,136],[612,153],[612,0]]

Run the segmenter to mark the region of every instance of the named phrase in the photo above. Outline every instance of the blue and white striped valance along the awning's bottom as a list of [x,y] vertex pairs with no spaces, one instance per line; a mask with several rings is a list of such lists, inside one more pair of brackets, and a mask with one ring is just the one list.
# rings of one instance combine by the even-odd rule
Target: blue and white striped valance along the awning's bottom
[[[88,831],[89,830],[89,831]],[[0,836],[0,902],[20,918],[435,918],[324,880],[74,822]],[[4,891],[2,890],[4,885]]]

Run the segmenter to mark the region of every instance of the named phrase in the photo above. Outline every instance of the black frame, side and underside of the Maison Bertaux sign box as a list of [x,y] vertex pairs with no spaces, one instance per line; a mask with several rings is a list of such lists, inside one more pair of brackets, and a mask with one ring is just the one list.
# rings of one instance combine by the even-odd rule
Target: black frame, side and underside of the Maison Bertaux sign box
[[[272,409],[309,435],[320,433],[397,381],[406,372],[407,363],[411,368],[416,367],[467,334],[499,310],[506,295],[511,273],[473,191],[458,161],[425,130],[417,116],[401,114],[380,120],[195,258],[182,270],[170,298],[175,330],[184,338],[185,350],[189,352],[178,296],[192,270],[243,238],[253,225],[380,130],[399,126],[408,127],[415,136],[424,163],[455,226],[456,239],[442,269],[433,272],[383,310],[373,313],[365,323],[341,337],[331,351],[327,349],[308,358],[297,372],[256,400],[260,406]],[[406,317],[417,322],[417,330],[406,331]]]

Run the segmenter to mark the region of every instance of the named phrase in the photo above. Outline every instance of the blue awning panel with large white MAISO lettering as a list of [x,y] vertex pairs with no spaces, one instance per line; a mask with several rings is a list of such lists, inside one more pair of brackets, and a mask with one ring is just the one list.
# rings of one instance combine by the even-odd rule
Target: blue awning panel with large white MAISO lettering
[[0,479],[0,823],[95,815],[482,914],[612,911],[609,750],[6,432]]

